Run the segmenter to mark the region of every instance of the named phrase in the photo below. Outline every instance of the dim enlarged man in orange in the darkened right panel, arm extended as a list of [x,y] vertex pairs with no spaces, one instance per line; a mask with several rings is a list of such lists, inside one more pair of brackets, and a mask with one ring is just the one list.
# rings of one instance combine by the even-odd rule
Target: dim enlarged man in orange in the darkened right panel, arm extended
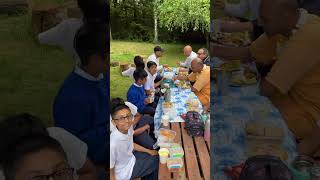
[[300,9],[296,0],[262,0],[260,19],[265,34],[250,47],[212,44],[210,51],[271,67],[263,74],[260,93],[300,141],[299,153],[314,156],[320,149],[320,17]]

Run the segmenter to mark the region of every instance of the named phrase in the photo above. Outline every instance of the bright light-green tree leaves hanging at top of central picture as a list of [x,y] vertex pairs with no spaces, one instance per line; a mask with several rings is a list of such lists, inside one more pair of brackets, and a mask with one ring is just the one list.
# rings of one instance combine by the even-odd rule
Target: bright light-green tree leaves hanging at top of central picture
[[208,32],[210,0],[163,0],[157,7],[160,26],[168,30]]

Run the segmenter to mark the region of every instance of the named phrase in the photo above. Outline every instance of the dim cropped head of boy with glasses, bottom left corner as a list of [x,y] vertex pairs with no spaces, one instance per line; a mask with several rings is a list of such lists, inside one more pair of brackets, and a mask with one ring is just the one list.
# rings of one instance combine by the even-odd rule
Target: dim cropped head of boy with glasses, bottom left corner
[[3,151],[6,180],[74,180],[63,148],[48,135],[30,134]]

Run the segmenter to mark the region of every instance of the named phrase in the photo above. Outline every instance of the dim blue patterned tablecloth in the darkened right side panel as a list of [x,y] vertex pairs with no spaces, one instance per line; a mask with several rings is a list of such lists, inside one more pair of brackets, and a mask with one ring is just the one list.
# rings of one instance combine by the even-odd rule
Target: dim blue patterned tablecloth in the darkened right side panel
[[291,162],[296,153],[294,136],[288,130],[278,110],[265,97],[258,95],[258,86],[230,87],[228,96],[217,96],[217,87],[211,81],[211,179],[228,180],[223,169],[244,163],[246,156],[245,124],[254,121],[258,108],[267,110],[270,124],[283,127],[285,138],[283,148]]

